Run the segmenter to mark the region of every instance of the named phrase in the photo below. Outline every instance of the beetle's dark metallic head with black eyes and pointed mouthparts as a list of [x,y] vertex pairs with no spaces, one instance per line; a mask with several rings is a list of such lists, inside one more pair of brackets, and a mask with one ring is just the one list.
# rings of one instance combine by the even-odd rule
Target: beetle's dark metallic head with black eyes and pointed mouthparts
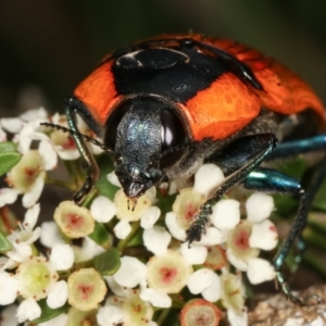
[[151,97],[125,101],[105,125],[104,145],[114,152],[115,174],[130,199],[166,181],[166,170],[187,151],[181,146],[186,140],[187,130],[175,108]]

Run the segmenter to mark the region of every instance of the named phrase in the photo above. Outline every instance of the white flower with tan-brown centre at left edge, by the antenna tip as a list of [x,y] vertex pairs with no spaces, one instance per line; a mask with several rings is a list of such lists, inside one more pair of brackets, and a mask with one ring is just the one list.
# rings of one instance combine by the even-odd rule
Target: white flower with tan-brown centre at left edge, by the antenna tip
[[[46,171],[53,170],[58,163],[50,138],[39,131],[40,123],[47,121],[47,112],[42,108],[30,110],[16,118],[0,120],[4,129],[15,134],[13,141],[17,142],[17,149],[23,154],[21,161],[8,173],[8,183],[13,191],[0,191],[0,206],[13,203],[17,195],[23,195],[25,208],[32,206],[39,199]],[[30,149],[34,140],[39,142],[38,150]]]

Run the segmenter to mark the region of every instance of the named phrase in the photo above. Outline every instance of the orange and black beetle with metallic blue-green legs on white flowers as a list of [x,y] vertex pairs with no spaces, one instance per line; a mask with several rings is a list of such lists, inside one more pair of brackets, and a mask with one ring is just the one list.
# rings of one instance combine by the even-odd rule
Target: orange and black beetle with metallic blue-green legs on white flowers
[[[82,135],[76,114],[103,139]],[[301,239],[309,206],[326,168],[305,191],[300,181],[264,161],[325,150],[325,114],[315,92],[290,70],[244,45],[202,35],[166,35],[105,57],[66,101],[70,133],[87,177],[75,193],[82,203],[99,168],[85,141],[109,153],[134,204],[146,190],[217,164],[225,181],[200,206],[187,241],[200,240],[212,204],[235,185],[299,198],[293,226],[274,260],[283,291],[297,303],[281,273]],[[324,164],[326,166],[326,164]],[[303,250],[303,242],[299,241]]]

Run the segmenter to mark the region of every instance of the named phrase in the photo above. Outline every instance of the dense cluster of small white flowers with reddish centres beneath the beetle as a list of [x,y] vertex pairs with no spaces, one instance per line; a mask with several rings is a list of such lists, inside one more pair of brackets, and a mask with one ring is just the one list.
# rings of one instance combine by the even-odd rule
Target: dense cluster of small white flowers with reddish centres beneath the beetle
[[[1,325],[154,326],[176,316],[184,326],[218,325],[225,316],[234,326],[246,325],[243,275],[253,285],[275,278],[260,255],[278,242],[268,220],[273,198],[224,196],[212,208],[202,239],[189,246],[187,228],[224,180],[217,166],[202,165],[193,185],[174,185],[168,195],[149,189],[134,210],[111,171],[84,206],[63,201],[38,223],[46,184],[76,190],[83,180],[73,139],[41,128],[47,121],[66,124],[65,116],[49,118],[43,109],[0,120],[0,141],[12,137],[22,155],[7,174],[8,187],[0,189],[0,304],[7,305]],[[51,175],[59,160],[71,180]],[[15,222],[10,205],[20,195],[26,213]]]

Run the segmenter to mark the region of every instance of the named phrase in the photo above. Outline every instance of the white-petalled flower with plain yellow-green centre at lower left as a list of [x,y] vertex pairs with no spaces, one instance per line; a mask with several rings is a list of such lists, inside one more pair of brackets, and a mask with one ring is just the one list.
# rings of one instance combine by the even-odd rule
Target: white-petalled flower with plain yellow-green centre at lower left
[[[0,287],[5,296],[1,304],[12,303],[17,294],[25,300],[18,306],[17,317],[20,323],[40,316],[37,300],[47,298],[51,309],[62,306],[67,300],[67,285],[65,280],[58,280],[57,271],[72,267],[74,263],[73,250],[67,244],[55,244],[50,260],[41,256],[32,256],[21,262],[15,275],[7,272],[0,273]],[[5,287],[5,288],[4,288]]]

